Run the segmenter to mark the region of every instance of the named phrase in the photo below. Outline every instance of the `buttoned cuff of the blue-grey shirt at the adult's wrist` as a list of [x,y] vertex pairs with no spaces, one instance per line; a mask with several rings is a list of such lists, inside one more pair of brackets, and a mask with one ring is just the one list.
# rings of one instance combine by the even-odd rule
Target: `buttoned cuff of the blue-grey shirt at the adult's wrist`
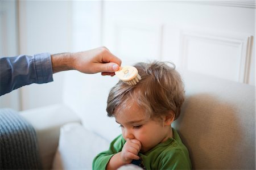
[[52,82],[53,72],[52,72],[51,54],[49,53],[35,54],[34,61],[35,61],[35,70],[36,70],[36,76],[38,81],[36,83],[42,84],[42,83]]

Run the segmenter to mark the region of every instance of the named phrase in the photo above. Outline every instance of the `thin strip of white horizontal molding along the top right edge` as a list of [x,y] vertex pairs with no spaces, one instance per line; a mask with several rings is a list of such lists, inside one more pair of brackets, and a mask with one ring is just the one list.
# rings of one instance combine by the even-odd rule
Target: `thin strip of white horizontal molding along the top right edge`
[[255,1],[212,1],[212,0],[204,0],[204,1],[168,1],[174,3],[191,3],[191,4],[199,4],[199,5],[216,5],[216,6],[228,6],[228,7],[241,7],[241,8],[256,8]]

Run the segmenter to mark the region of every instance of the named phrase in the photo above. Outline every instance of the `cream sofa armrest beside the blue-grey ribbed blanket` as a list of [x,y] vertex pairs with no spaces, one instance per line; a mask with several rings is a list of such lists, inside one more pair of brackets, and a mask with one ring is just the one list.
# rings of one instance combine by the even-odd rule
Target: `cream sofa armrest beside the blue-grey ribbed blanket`
[[80,118],[64,104],[30,109],[20,114],[36,131],[43,169],[51,169],[59,142],[60,127],[68,122],[81,123]]

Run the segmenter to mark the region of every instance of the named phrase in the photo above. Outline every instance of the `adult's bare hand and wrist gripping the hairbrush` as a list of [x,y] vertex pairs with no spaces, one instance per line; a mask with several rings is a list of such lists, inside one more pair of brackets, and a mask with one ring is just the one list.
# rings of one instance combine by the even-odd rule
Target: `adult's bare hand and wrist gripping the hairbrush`
[[114,75],[114,71],[121,66],[121,59],[114,56],[103,47],[77,53],[53,54],[53,73],[64,70],[77,70],[82,73],[100,73],[102,75]]

